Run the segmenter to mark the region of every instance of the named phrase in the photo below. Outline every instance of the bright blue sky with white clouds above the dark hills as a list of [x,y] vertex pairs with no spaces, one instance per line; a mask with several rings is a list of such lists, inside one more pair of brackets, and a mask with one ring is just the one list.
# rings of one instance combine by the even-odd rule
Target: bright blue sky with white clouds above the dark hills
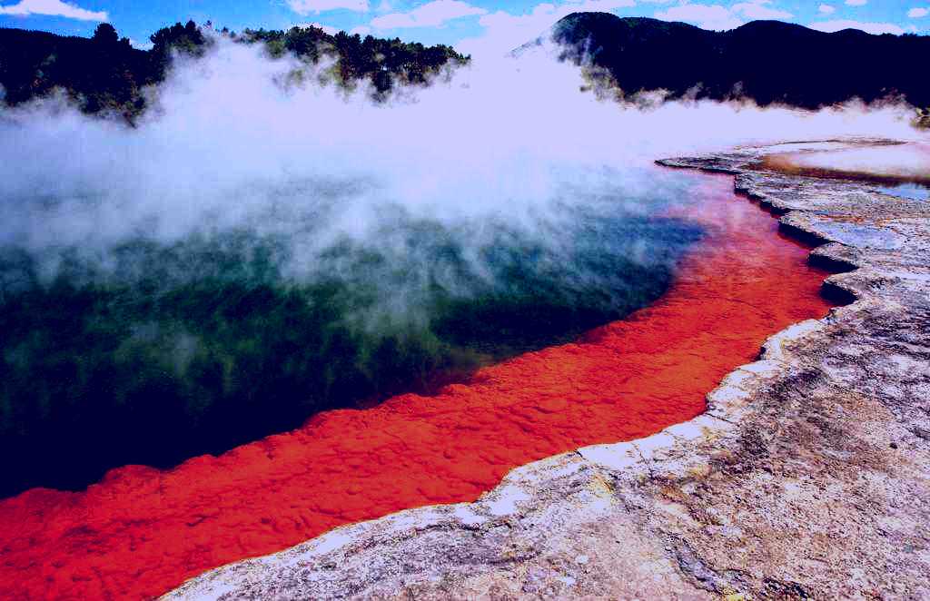
[[107,20],[144,47],[150,33],[176,20],[213,20],[233,30],[312,22],[480,53],[506,51],[575,10],[684,20],[708,29],[777,19],[824,31],[930,33],[930,0],[0,0],[0,27],[89,35]]

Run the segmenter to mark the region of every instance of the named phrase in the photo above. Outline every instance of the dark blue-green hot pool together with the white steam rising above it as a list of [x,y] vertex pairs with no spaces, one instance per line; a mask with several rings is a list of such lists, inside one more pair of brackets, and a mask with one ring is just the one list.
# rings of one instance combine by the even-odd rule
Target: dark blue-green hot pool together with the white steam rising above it
[[[912,137],[900,107],[650,108],[545,48],[376,104],[223,38],[138,127],[0,109],[4,491],[429,390],[655,301],[704,235],[661,156]],[[67,449],[67,452],[64,452]]]

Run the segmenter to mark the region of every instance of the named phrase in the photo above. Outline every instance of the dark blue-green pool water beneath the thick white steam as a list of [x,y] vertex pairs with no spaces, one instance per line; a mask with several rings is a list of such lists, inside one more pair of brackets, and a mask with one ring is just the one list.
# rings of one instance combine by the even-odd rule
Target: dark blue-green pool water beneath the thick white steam
[[0,244],[0,456],[18,458],[0,497],[176,465],[573,340],[670,285],[702,230],[663,207],[618,194],[532,225],[382,210],[373,234],[306,257],[247,224],[97,254]]

